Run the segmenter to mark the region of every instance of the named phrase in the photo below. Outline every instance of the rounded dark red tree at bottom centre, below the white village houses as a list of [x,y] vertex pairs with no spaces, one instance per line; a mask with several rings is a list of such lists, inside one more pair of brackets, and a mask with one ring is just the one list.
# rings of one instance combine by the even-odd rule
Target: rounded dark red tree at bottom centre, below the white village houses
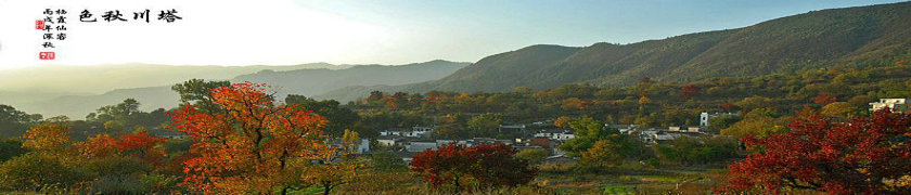
[[437,151],[415,154],[411,170],[431,185],[452,183],[457,191],[469,179],[487,185],[485,187],[516,186],[531,181],[537,169],[529,168],[525,160],[513,158],[515,153],[502,143],[482,143],[472,147],[451,143]]

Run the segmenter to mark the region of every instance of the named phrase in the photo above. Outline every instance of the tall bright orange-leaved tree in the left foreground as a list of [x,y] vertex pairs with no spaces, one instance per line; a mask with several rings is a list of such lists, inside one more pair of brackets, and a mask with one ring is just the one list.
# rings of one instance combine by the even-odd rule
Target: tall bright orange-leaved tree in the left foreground
[[183,184],[196,192],[272,194],[306,186],[311,159],[331,155],[322,140],[326,120],[297,105],[275,105],[269,86],[235,83],[209,93],[218,112],[184,105],[169,129],[196,141],[184,161]]

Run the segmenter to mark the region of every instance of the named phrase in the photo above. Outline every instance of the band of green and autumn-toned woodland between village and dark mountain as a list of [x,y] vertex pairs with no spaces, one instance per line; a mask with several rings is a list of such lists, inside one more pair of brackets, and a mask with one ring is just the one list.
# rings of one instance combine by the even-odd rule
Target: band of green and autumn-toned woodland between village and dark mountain
[[[642,78],[634,87],[596,88],[564,84],[534,92],[518,87],[513,92],[425,93],[371,92],[349,102],[365,120],[385,120],[384,128],[436,125],[440,138],[491,135],[470,127],[469,121],[531,123],[560,116],[588,116],[606,123],[634,123],[641,128],[697,126],[700,113],[736,113],[741,117],[717,118],[710,130],[733,126],[741,119],[757,123],[793,116],[810,106],[833,116],[869,114],[868,103],[882,98],[911,96],[911,67],[898,61],[887,67],[835,66],[798,73],[743,78],[714,78],[689,83],[656,83]],[[760,113],[749,113],[762,109]],[[496,117],[491,117],[496,115]],[[780,123],[780,122],[778,122]],[[739,129],[748,125],[741,125]],[[371,133],[365,133],[371,134]],[[493,134],[496,135],[496,134]]]

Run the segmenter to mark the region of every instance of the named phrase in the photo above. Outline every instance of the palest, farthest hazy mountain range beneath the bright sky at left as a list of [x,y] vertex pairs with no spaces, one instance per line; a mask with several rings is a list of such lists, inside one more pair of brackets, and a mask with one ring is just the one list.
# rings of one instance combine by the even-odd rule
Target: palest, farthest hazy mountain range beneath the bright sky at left
[[98,94],[113,89],[171,84],[192,78],[230,79],[264,69],[344,69],[352,65],[326,63],[291,66],[170,66],[120,64],[98,66],[41,66],[0,72],[0,91]]

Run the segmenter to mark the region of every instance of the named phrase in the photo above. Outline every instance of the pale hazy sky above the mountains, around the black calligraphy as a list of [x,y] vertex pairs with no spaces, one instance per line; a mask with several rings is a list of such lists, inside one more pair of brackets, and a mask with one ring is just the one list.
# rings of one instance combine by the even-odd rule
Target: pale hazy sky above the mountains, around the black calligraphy
[[[475,62],[530,44],[631,43],[739,28],[813,10],[887,0],[0,0],[0,68]],[[46,51],[35,21],[66,9],[67,37]],[[103,22],[105,11],[149,9],[151,23]],[[183,20],[156,21],[175,9]],[[100,22],[81,23],[89,10]]]

